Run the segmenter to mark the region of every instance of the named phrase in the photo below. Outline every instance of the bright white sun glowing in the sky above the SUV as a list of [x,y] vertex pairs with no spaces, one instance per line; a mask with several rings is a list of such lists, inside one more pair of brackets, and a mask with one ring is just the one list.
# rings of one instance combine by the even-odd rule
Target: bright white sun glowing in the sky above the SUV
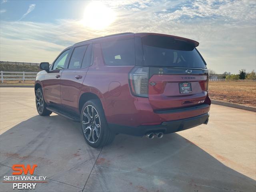
[[116,14],[100,1],[93,1],[84,10],[83,24],[95,30],[102,30],[114,22]]

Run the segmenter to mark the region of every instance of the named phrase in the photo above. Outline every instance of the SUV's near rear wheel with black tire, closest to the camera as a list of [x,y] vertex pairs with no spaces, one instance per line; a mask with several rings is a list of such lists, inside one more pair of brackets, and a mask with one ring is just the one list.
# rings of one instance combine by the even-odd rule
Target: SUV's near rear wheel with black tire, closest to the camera
[[99,100],[89,100],[84,104],[81,111],[81,132],[86,142],[94,148],[101,148],[113,142],[115,134],[108,128]]

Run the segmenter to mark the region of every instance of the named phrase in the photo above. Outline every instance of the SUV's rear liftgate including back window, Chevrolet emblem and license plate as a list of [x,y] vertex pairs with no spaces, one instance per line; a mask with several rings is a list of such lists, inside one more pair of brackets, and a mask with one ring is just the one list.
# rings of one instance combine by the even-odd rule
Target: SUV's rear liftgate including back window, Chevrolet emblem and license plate
[[149,67],[148,98],[154,110],[204,103],[208,70],[192,42],[163,36],[142,38]]

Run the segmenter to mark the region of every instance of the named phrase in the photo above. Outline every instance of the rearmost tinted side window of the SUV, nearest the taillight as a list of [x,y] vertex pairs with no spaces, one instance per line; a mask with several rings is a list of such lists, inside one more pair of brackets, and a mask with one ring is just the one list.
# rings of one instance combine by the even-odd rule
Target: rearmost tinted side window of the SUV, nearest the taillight
[[134,39],[101,44],[106,65],[135,65]]

